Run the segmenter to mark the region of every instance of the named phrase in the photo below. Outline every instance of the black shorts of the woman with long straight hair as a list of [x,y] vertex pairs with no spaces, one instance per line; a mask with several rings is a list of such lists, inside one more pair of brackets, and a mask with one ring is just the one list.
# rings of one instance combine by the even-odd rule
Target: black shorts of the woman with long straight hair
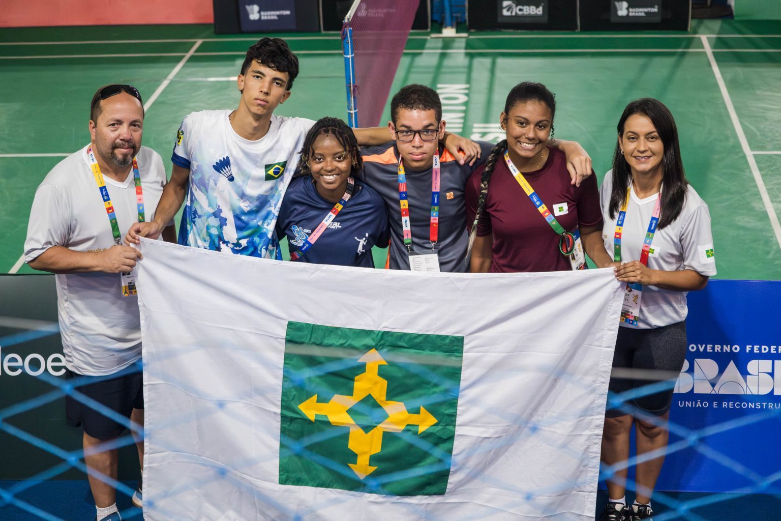
[[[686,323],[679,322],[669,326],[656,327],[650,330],[636,330],[629,327],[619,327],[619,336],[615,340],[614,368],[656,369],[665,371],[658,379],[648,378],[634,380],[631,378],[615,378],[611,376],[609,390],[615,394],[638,389],[639,394],[626,400],[624,408],[608,409],[605,416],[615,418],[632,414],[633,410],[653,416],[662,416],[670,410],[672,391],[676,383],[673,374],[677,375],[683,369],[686,359]],[[652,373],[651,373],[652,374]],[[677,377],[677,376],[676,376]],[[666,382],[661,391],[644,394],[643,387]]]

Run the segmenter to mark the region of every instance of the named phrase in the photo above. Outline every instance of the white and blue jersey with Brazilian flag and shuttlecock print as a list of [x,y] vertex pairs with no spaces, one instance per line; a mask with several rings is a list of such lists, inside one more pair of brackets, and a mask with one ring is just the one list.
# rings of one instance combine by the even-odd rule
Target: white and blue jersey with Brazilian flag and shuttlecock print
[[249,141],[230,112],[193,112],[177,132],[171,160],[190,170],[179,244],[281,259],[276,217],[315,122],[273,115],[268,134]]

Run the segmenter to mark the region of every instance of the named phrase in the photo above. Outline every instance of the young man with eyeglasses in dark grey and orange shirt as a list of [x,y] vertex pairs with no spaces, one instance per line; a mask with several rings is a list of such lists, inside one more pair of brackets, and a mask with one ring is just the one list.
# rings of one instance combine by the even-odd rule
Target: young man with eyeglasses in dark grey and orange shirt
[[[385,201],[391,223],[390,269],[465,272],[468,234],[464,187],[490,155],[493,143],[477,141],[480,159],[459,162],[440,140],[445,133],[437,91],[425,85],[402,87],[391,100],[388,128],[395,141],[362,148],[364,180]],[[580,184],[591,160],[573,141],[551,140],[567,154],[568,169]]]

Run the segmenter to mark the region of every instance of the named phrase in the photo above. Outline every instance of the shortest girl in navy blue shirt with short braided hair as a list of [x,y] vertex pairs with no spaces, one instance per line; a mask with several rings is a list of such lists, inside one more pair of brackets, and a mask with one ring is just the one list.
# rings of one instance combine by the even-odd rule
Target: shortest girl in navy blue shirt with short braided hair
[[282,200],[276,234],[287,236],[291,260],[373,268],[372,247],[388,244],[385,204],[362,183],[363,162],[350,127],[318,120],[301,148],[301,176]]

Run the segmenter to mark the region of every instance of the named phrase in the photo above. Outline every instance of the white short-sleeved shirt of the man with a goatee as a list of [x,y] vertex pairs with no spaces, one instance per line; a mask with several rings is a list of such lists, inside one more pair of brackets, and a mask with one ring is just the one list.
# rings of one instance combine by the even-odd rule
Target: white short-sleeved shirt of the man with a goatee
[[[25,262],[52,246],[91,252],[114,245],[109,217],[87,160],[88,146],[62,159],[37,188],[24,243]],[[136,157],[145,220],[151,221],[166,184],[166,170],[152,148],[141,147]],[[107,176],[104,179],[124,239],[137,221],[133,172],[123,183]],[[101,376],[141,358],[138,299],[121,295],[119,273],[56,274],[55,280],[62,352],[68,369]]]

